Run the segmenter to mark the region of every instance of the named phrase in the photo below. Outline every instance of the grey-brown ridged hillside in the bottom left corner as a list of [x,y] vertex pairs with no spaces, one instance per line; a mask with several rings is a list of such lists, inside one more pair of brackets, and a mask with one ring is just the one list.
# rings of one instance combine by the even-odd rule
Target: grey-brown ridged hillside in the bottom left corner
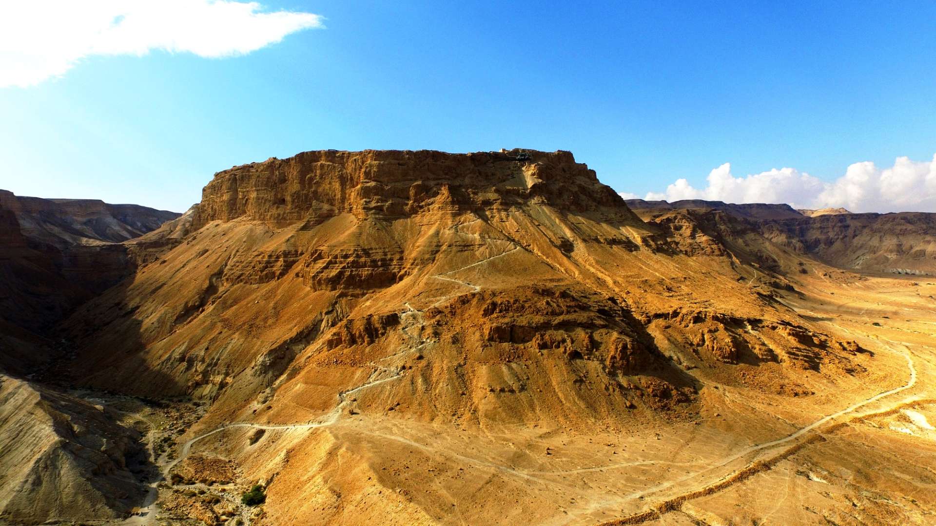
[[88,402],[0,374],[0,521],[124,517],[143,497],[138,441]]

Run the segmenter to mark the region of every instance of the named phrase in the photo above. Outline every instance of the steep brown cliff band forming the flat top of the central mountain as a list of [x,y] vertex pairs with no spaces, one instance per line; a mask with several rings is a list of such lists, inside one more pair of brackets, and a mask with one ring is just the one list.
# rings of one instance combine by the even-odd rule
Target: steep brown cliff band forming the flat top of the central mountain
[[594,170],[569,152],[428,150],[299,153],[230,168],[202,191],[197,224],[238,217],[276,224],[342,213],[394,218],[443,211],[548,204],[633,216]]

